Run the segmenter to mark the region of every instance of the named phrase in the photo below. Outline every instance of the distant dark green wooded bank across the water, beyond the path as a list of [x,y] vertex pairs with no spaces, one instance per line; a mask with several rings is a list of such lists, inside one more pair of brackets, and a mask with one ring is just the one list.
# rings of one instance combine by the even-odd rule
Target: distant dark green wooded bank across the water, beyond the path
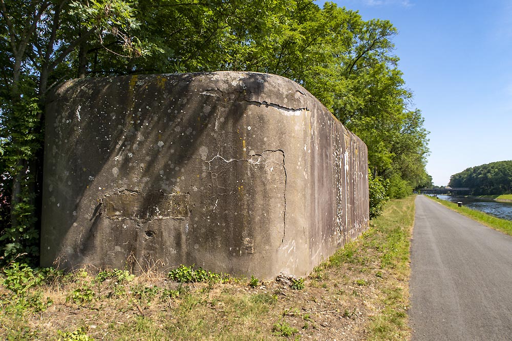
[[512,194],[512,160],[467,168],[450,177],[450,187],[469,187],[473,195]]

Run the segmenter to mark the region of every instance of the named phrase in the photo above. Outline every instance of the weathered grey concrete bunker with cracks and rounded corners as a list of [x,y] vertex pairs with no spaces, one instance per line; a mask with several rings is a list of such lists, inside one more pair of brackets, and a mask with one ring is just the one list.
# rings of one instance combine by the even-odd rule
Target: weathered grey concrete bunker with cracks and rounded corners
[[283,77],[73,80],[46,122],[44,266],[304,276],[368,226],[365,144]]

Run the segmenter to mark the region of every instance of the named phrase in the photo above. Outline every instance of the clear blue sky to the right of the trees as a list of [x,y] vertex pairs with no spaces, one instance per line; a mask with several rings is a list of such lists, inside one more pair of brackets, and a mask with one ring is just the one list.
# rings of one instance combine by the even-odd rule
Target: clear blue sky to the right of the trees
[[398,29],[398,68],[431,132],[426,169],[434,185],[468,167],[512,160],[512,1],[335,3]]

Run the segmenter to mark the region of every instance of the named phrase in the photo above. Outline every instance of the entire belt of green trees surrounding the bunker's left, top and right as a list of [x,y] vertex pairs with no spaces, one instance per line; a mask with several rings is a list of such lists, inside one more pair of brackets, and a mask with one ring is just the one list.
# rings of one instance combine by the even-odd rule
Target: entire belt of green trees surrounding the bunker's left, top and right
[[427,131],[388,20],[312,0],[0,0],[0,255],[37,259],[46,98],[72,78],[255,71],[308,89],[368,146],[372,216],[428,186]]

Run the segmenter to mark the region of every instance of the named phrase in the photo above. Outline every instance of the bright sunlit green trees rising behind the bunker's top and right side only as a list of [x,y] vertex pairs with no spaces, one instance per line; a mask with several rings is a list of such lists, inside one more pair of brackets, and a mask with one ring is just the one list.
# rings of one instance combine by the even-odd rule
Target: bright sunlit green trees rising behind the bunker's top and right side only
[[[364,21],[357,12],[333,3],[320,8],[310,0],[178,3],[182,6],[141,3],[141,21],[151,23],[148,37],[163,42],[168,58],[162,62],[154,54],[139,60],[139,69],[256,71],[290,78],[367,144],[372,172],[383,179],[398,174],[412,188],[428,181],[428,132],[420,110],[410,108],[412,94],[396,67],[397,30],[391,22]],[[148,9],[151,17],[144,16]],[[168,32],[174,39],[165,40]],[[397,181],[390,187],[395,185],[398,196],[409,191]]]

